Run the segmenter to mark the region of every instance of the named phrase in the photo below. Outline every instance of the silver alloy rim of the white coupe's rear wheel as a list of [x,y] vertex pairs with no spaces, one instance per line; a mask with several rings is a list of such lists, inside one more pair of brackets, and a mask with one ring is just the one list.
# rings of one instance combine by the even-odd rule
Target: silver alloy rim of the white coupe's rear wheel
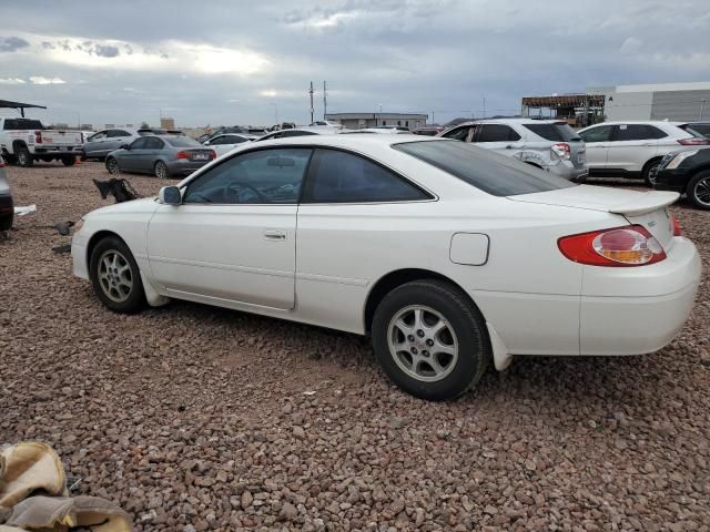
[[435,382],[458,360],[458,339],[449,321],[433,308],[412,305],[394,315],[387,328],[389,354],[409,377]]

